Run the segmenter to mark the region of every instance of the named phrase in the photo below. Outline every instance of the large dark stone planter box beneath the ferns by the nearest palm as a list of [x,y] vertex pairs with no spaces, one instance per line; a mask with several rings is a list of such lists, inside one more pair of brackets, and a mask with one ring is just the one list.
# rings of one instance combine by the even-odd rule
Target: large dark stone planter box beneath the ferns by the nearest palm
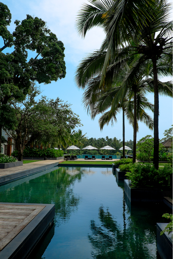
[[161,191],[161,189],[130,188],[128,180],[124,180],[124,191],[131,203],[163,202],[164,196],[172,194],[172,191]]

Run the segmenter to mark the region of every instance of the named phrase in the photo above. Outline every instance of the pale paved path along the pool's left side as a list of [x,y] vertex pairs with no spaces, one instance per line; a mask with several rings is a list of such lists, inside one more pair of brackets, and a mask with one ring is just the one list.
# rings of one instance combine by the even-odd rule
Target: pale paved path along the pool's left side
[[58,160],[58,161],[57,160],[41,160],[41,161],[37,161],[37,162],[23,164],[22,166],[0,169],[0,176],[9,175],[12,173],[18,173],[18,172],[22,172],[24,170],[34,169],[36,167],[43,166],[43,165],[50,165],[53,163],[57,163],[59,161],[62,161],[62,160]]

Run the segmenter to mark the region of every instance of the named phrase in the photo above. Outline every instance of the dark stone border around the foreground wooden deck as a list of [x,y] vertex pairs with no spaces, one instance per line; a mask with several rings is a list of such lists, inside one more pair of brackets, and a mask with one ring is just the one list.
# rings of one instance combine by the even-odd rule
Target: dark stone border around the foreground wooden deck
[[1,203],[13,205],[46,206],[28,225],[0,252],[0,259],[24,259],[33,250],[43,234],[54,224],[55,204]]

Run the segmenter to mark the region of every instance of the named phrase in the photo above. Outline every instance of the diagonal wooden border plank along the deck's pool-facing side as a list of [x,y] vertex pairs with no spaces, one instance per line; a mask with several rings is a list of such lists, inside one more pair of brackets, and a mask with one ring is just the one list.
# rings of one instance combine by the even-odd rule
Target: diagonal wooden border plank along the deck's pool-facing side
[[29,223],[45,206],[38,206],[28,217],[26,217],[20,224],[18,224],[12,231],[10,231],[0,242],[0,250],[2,250],[22,229]]

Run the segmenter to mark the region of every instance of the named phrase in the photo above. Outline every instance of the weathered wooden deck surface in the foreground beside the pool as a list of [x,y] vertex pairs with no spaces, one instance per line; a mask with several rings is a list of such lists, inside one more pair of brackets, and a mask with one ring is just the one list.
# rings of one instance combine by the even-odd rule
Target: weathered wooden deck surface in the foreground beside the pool
[[29,223],[45,206],[7,205],[0,203],[0,251]]

